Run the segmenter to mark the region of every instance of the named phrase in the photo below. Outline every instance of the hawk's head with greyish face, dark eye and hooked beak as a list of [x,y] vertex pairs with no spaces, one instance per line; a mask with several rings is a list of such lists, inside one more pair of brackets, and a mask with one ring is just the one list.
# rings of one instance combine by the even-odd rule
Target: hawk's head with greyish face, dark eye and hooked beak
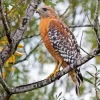
[[43,6],[41,8],[38,8],[36,13],[38,13],[41,18],[57,17],[54,9],[52,9],[50,6]]

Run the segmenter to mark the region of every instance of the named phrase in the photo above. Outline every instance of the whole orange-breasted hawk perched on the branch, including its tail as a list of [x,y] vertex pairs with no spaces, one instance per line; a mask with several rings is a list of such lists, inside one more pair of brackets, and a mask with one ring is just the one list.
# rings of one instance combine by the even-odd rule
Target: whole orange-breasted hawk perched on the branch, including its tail
[[[43,43],[56,62],[54,72],[50,76],[56,77],[61,67],[65,68],[81,58],[80,49],[75,36],[57,16],[54,9],[43,6],[36,12],[40,15],[39,29]],[[76,94],[79,94],[79,86],[83,82],[80,69],[69,72],[69,75],[75,84]]]

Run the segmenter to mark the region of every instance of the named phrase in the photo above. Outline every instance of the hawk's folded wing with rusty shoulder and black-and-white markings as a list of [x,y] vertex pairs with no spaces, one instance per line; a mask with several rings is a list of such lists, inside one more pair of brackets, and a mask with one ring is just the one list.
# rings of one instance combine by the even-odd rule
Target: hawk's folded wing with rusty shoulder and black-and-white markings
[[48,35],[51,44],[64,58],[64,61],[71,64],[80,56],[80,51],[74,35],[70,35],[64,25],[58,20],[51,20],[48,27]]

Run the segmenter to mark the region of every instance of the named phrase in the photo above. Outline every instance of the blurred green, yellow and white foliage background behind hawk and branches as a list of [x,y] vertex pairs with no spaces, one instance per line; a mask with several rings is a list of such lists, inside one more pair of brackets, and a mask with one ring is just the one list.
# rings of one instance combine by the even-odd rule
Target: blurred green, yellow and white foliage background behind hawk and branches
[[[10,29],[14,32],[25,14],[30,0],[3,0],[4,11]],[[47,0],[40,6],[51,5],[58,16],[68,25],[92,25],[95,18],[96,0]],[[100,9],[99,9],[100,15]],[[100,16],[99,16],[100,20]],[[39,44],[39,15],[34,14],[26,34],[20,41],[16,53],[9,58],[3,68],[3,78],[10,87],[43,80],[50,75],[55,62],[44,44]],[[0,34],[4,32],[0,23]],[[74,27],[70,30],[75,35],[79,46],[87,53],[97,46],[93,27]],[[1,35],[0,35],[1,36]],[[0,49],[6,45],[6,37],[0,37]],[[87,55],[81,49],[82,56]],[[10,100],[100,100],[100,56],[82,65],[81,73],[84,82],[80,87],[80,95],[75,93],[74,84],[68,75],[40,89],[15,94]],[[2,86],[0,93],[3,93]],[[98,95],[97,95],[98,94]],[[97,95],[97,96],[96,96]],[[98,99],[97,99],[98,98]]]

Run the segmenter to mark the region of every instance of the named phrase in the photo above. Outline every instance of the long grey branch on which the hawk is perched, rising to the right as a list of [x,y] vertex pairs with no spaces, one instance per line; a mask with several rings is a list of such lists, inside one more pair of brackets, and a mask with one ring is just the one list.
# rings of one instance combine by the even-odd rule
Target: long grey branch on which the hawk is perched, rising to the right
[[[61,70],[60,72],[57,73],[57,77],[54,78],[53,76],[50,79],[45,79],[39,82],[35,82],[32,84],[27,84],[27,85],[22,85],[22,86],[18,86],[12,89],[12,93],[16,94],[16,93],[22,93],[22,92],[27,92],[27,91],[31,91],[40,87],[44,87],[52,82],[54,82],[55,80],[59,79],[61,76],[65,75],[66,73],[68,73],[69,71],[81,66],[82,64],[86,63],[87,61],[89,61],[90,59],[92,59],[95,55],[100,53],[100,48],[96,48],[95,50],[93,50],[89,55],[79,59],[76,63],[67,66],[65,69]],[[91,56],[90,56],[91,55]]]

